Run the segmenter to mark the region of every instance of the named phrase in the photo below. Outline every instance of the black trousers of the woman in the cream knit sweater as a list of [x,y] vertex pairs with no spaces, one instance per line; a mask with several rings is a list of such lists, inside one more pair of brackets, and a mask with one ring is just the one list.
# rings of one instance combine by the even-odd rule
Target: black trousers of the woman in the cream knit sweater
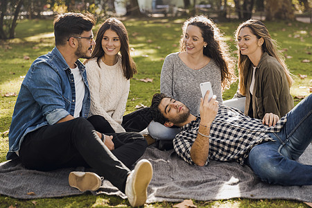
[[[148,127],[152,121],[152,114],[150,114],[150,107],[144,107],[130,114],[123,116],[121,125],[126,132],[141,132]],[[103,116],[92,116],[89,121],[94,125],[94,128],[99,132],[114,133],[114,129]]]

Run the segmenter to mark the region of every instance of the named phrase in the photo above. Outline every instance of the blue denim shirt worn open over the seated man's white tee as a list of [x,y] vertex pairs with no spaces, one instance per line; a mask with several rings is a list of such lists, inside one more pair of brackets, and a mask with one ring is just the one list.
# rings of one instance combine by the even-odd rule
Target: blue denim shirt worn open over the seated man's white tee
[[[89,85],[85,66],[76,61],[83,82],[85,97],[80,116],[87,118],[90,107]],[[21,142],[28,132],[44,125],[53,125],[75,110],[76,92],[73,74],[62,54],[53,51],[37,58],[28,70],[14,108],[9,132],[6,159],[17,157]]]

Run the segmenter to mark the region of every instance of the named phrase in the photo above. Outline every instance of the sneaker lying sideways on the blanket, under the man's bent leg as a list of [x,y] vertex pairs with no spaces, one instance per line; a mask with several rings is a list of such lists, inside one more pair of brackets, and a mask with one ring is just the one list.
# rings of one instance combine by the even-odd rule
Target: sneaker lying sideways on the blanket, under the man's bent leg
[[92,172],[73,171],[69,173],[69,186],[75,187],[80,191],[96,191],[101,187],[101,177]]

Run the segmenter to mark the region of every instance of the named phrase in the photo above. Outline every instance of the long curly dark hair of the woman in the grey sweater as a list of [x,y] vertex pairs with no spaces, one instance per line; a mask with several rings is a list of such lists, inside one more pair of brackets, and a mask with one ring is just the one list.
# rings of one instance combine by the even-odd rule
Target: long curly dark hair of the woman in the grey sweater
[[228,87],[236,76],[234,75],[234,60],[229,55],[229,47],[223,40],[223,34],[214,22],[204,15],[190,17],[182,26],[182,37],[180,40],[180,51],[186,51],[186,46],[183,42],[187,27],[189,25],[200,28],[204,41],[207,46],[204,47],[202,53],[213,59],[217,66],[220,67],[221,83],[223,89]]

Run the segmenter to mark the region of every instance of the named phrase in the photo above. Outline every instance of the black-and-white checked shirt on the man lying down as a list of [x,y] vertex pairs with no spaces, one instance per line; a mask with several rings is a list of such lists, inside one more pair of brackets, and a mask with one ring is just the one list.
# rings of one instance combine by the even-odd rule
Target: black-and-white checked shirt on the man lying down
[[[287,114],[274,127],[268,127],[260,119],[250,118],[233,107],[221,105],[210,127],[209,155],[205,165],[209,164],[209,159],[220,162],[234,160],[243,165],[254,146],[263,141],[274,141],[267,132],[279,132],[286,121]],[[190,153],[199,123],[200,116],[197,116],[196,121],[184,125],[173,139],[175,152],[189,164],[195,164]]]

